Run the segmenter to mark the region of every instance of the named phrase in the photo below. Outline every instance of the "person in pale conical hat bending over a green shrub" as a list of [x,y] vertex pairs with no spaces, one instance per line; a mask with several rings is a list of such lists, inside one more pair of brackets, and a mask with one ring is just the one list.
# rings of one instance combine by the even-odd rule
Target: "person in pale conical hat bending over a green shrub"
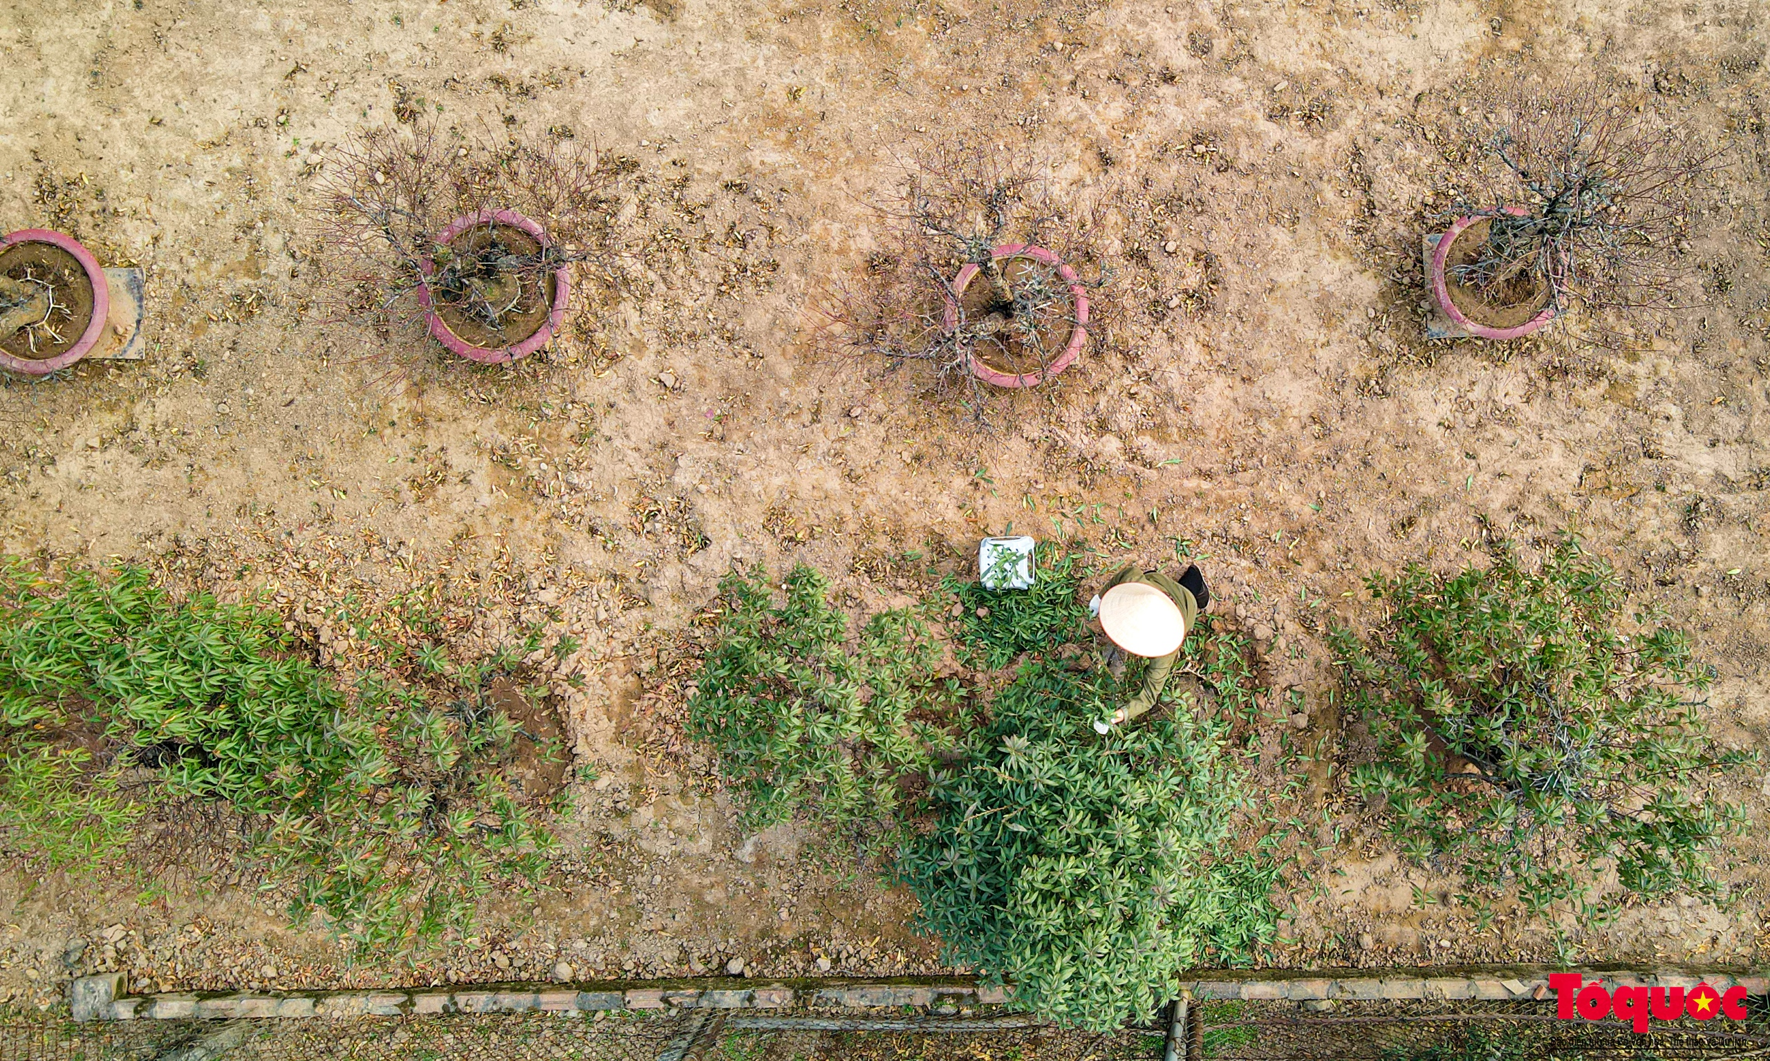
[[1149,660],[1138,693],[1112,718],[1094,723],[1104,734],[1113,725],[1143,714],[1161,698],[1161,690],[1174,674],[1174,660],[1181,654],[1181,642],[1191,633],[1198,612],[1211,603],[1211,591],[1198,564],[1186,568],[1179,582],[1131,564],[1113,575],[1092,603],[1101,633],[1113,644],[1106,654],[1113,677],[1124,674],[1126,656]]

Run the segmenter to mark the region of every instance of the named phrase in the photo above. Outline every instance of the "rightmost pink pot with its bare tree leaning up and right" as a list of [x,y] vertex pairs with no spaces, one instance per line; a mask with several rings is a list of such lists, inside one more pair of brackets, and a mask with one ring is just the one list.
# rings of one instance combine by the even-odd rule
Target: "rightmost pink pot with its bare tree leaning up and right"
[[1607,332],[1621,313],[1685,304],[1690,186],[1724,164],[1719,149],[1595,81],[1515,81],[1464,110],[1478,191],[1428,262],[1451,322],[1512,340],[1579,308]]

